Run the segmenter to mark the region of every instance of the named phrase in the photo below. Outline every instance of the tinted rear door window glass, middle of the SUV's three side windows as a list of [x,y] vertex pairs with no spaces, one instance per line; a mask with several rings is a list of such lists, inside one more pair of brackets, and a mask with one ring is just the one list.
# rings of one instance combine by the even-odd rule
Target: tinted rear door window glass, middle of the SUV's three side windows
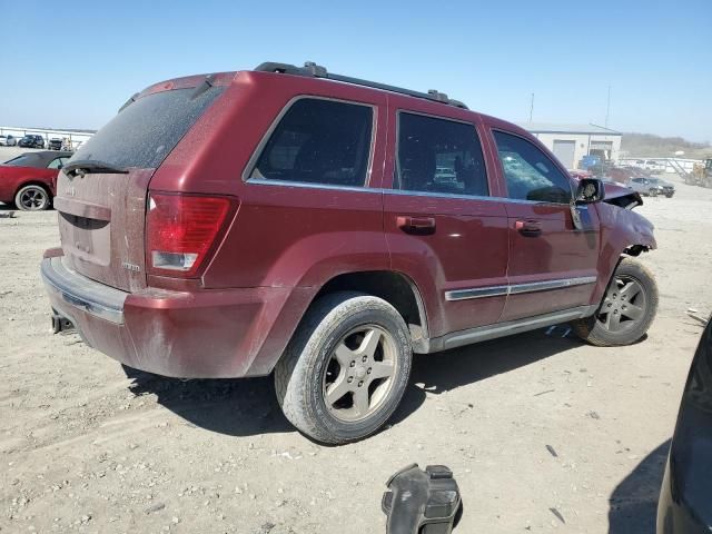
[[394,187],[405,191],[487,196],[487,172],[475,127],[398,113]]

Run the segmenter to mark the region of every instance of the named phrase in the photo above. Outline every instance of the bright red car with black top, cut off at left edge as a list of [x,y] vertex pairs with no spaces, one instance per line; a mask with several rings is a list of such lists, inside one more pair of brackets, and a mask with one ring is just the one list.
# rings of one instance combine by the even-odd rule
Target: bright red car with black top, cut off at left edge
[[14,204],[24,211],[52,205],[57,174],[72,152],[26,152],[0,164],[0,202]]

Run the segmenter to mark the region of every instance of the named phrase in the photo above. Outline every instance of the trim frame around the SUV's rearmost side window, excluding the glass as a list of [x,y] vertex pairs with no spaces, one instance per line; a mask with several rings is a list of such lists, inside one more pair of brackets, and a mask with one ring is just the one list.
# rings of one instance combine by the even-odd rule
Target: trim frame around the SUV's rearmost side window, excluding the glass
[[[352,106],[363,106],[366,108],[370,108],[372,110],[372,125],[370,125],[370,144],[368,146],[368,160],[366,161],[366,177],[363,186],[337,186],[329,184],[317,184],[317,182],[306,182],[306,181],[287,181],[287,180],[269,180],[266,178],[250,178],[250,175],[255,171],[257,167],[257,162],[263,154],[263,150],[267,147],[269,139],[273,134],[281,122],[281,119],[289,112],[289,110],[300,100],[327,100],[330,102],[343,102]],[[257,144],[257,147],[253,151],[245,169],[243,170],[241,179],[245,184],[258,184],[258,185],[270,185],[270,186],[281,186],[281,187],[305,187],[312,189],[339,189],[339,190],[369,190],[373,189],[370,187],[370,180],[373,177],[373,164],[374,164],[374,154],[376,150],[376,129],[378,125],[378,106],[375,103],[359,102],[356,100],[347,100],[343,98],[332,98],[332,97],[322,97],[318,95],[297,95],[289,99],[289,101],[279,110],[275,119],[269,125],[269,128],[265,131],[261,139]],[[374,189],[375,190],[375,189]]]

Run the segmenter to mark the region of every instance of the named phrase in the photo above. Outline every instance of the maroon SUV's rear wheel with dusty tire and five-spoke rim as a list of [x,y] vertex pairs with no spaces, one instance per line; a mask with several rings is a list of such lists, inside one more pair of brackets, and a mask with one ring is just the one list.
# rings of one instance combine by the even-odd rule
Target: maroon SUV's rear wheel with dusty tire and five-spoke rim
[[387,301],[359,293],[317,300],[275,368],[281,409],[300,432],[327,444],[378,431],[411,375],[408,328]]

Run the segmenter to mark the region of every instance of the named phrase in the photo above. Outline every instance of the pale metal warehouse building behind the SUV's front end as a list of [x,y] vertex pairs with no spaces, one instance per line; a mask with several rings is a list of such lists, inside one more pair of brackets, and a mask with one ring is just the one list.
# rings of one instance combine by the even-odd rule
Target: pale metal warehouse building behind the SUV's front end
[[550,125],[520,122],[542,141],[568,169],[575,169],[587,155],[617,159],[623,134],[595,125]]

